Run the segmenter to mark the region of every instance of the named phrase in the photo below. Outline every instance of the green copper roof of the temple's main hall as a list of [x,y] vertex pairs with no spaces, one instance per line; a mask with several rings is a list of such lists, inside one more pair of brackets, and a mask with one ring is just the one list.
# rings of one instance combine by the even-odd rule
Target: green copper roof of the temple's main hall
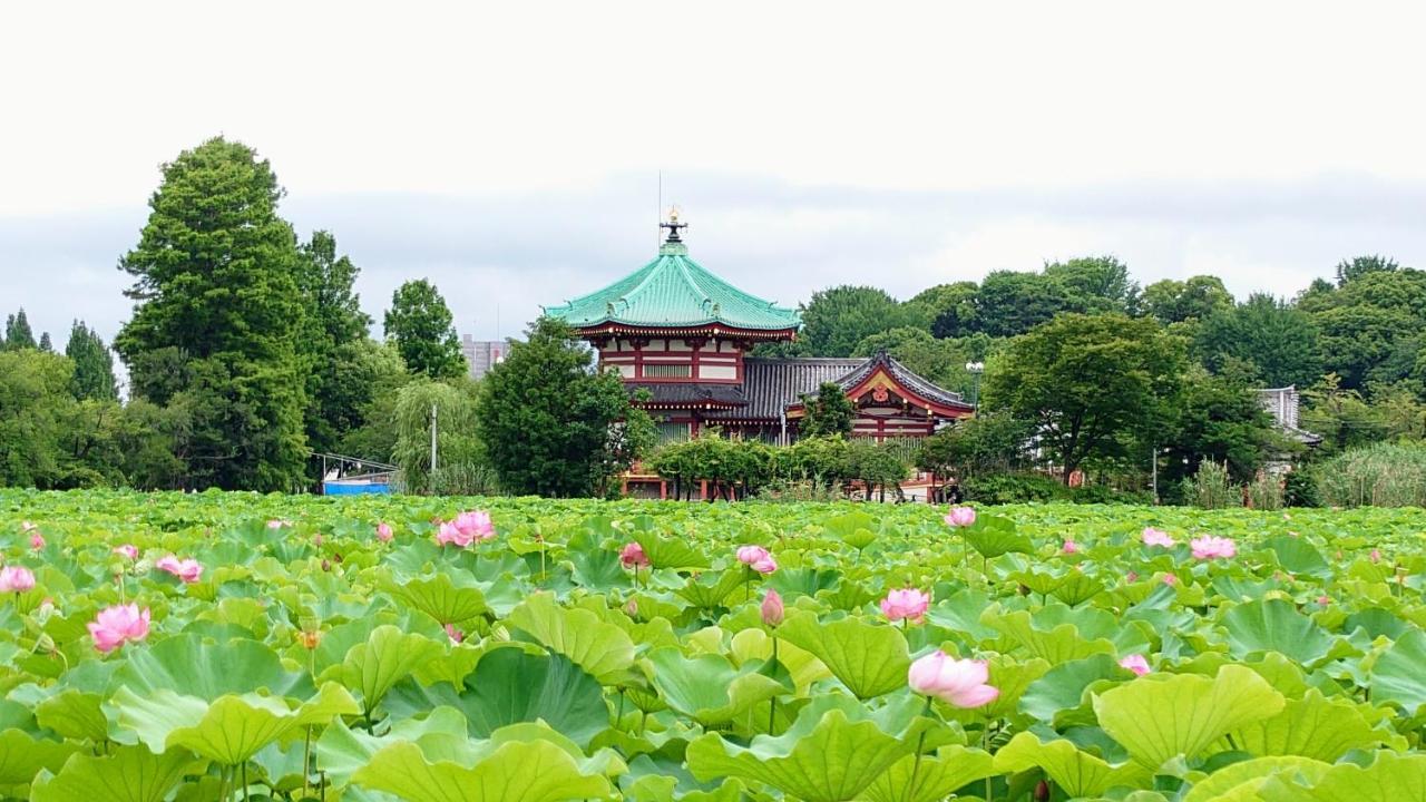
[[670,237],[659,258],[603,290],[580,295],[546,314],[576,328],[606,323],[646,327],[722,324],[776,331],[801,324],[796,310],[749,295],[689,258],[689,248]]

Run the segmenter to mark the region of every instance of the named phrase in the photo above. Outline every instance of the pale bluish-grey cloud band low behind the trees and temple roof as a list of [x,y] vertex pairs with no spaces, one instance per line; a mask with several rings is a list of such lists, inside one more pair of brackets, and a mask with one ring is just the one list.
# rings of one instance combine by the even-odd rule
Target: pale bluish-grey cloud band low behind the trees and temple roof
[[[896,191],[729,173],[666,177],[692,227],[693,258],[784,304],[834,284],[910,297],[991,270],[1112,253],[1144,283],[1221,275],[1239,297],[1291,295],[1340,258],[1385,253],[1426,265],[1426,184],[1330,176],[1310,181],[1095,184],[1078,190]],[[341,193],[284,201],[305,237],[328,228],[361,267],[376,318],[392,291],[429,278],[458,328],[518,334],[540,305],[595,290],[653,257],[657,181],[617,174],[502,197]],[[63,344],[70,320],[111,338],[130,314],[114,268],[147,210],[0,217],[0,313],[24,305]],[[499,317],[499,327],[496,327]]]

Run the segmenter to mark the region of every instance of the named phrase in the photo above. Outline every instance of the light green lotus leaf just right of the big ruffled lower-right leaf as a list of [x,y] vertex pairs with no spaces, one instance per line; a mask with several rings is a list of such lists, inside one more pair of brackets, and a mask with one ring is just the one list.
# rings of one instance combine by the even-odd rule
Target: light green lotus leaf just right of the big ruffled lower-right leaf
[[1352,749],[1370,749],[1383,734],[1373,729],[1350,699],[1328,699],[1309,688],[1301,699],[1288,699],[1282,712],[1232,734],[1231,748],[1252,755],[1299,755],[1328,763]]

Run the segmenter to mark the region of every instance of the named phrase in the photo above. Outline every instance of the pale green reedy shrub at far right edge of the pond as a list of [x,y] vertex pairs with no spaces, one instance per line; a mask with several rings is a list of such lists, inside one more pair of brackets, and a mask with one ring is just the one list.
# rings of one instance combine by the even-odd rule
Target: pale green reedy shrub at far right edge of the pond
[[1353,448],[1322,464],[1318,488],[1332,507],[1426,507],[1426,447]]

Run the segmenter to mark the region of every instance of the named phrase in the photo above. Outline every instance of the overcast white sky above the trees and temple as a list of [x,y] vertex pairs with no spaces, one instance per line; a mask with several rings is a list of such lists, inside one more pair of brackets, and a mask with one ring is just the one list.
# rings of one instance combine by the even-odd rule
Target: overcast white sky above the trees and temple
[[[128,317],[158,166],[272,161],[378,318],[428,277],[462,333],[652,257],[783,303],[1112,253],[1292,294],[1426,267],[1420,4],[16,3],[0,10],[0,314]],[[379,323],[376,327],[379,334]]]

